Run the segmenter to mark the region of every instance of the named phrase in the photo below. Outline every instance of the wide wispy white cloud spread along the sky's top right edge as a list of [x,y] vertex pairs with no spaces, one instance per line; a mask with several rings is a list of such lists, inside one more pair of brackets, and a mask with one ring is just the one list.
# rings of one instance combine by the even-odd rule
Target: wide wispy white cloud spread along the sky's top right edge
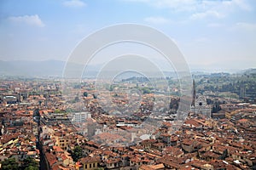
[[234,11],[251,11],[248,0],[121,0],[144,3],[154,8],[167,8],[172,12],[188,12],[191,19],[203,19],[208,16],[221,18]]

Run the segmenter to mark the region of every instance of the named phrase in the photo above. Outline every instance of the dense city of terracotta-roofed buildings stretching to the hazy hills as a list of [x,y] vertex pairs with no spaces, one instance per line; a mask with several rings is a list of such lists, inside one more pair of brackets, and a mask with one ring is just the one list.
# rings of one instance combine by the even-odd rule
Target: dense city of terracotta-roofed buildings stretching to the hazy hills
[[151,114],[162,94],[141,77],[108,88],[117,105],[134,97],[122,93],[123,85],[141,92],[137,110],[121,114],[101,107],[94,79],[74,84],[67,101],[61,78],[2,77],[1,169],[255,169],[255,70],[194,74],[180,126],[178,82],[166,79],[170,99],[157,107],[157,120]]

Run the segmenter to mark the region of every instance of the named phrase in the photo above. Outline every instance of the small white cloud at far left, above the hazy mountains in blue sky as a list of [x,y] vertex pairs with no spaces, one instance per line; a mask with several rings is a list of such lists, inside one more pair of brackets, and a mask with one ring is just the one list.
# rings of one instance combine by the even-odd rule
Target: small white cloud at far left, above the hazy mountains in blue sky
[[23,15],[23,16],[11,16],[9,20],[14,23],[24,23],[30,26],[44,27],[43,21],[39,18],[38,14],[35,15]]

